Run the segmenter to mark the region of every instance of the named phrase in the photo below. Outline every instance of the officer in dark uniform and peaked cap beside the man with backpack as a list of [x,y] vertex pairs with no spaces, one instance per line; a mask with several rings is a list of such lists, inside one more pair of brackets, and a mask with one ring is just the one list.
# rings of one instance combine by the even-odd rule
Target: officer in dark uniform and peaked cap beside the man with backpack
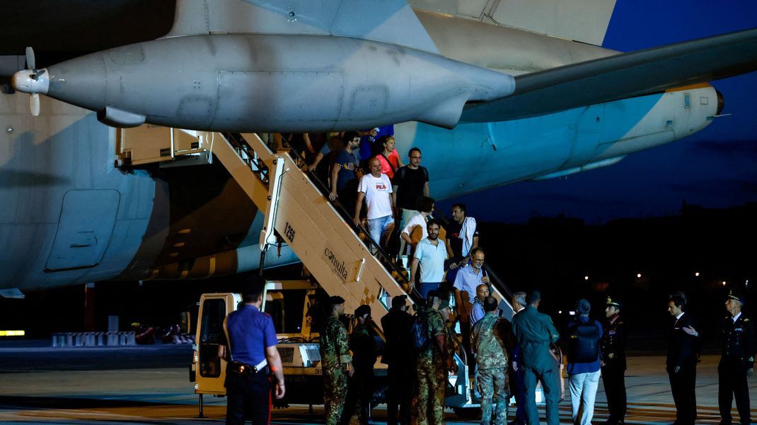
[[602,382],[609,410],[609,418],[605,423],[625,423],[625,340],[628,334],[620,316],[623,303],[616,298],[607,297],[605,305],[607,322],[600,338]]

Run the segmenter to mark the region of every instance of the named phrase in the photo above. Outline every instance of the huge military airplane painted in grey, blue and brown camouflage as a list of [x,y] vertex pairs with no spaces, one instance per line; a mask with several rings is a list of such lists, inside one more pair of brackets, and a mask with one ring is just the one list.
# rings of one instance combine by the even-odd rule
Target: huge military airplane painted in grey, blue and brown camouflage
[[[62,60],[37,68],[32,49],[2,51],[15,91],[0,95],[0,295],[261,266],[262,214],[222,167],[118,168],[111,126],[394,124],[398,151],[422,149],[431,196],[448,199],[687,137],[724,107],[707,82],[757,68],[757,29],[626,54],[597,47],[615,7],[599,0],[151,3],[170,2],[14,5],[31,22],[3,39],[42,34],[40,57],[47,43]],[[81,37],[97,22],[102,38]],[[264,266],[296,261],[284,248]]]

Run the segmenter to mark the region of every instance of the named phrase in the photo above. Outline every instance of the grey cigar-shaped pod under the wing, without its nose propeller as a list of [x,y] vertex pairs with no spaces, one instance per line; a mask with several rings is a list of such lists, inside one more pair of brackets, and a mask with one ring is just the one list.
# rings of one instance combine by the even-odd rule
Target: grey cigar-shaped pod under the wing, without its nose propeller
[[[457,124],[512,76],[382,42],[328,35],[188,35],[48,67],[48,96],[145,122],[212,131]],[[114,116],[113,113],[101,113]],[[118,125],[119,119],[107,120]]]

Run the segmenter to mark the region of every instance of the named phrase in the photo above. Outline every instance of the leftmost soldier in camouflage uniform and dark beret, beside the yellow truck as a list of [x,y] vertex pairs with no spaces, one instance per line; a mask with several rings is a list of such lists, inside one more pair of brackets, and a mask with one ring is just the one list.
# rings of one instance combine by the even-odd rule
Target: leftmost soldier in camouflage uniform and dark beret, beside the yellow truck
[[347,329],[339,322],[344,313],[344,298],[329,298],[332,313],[321,333],[321,368],[323,371],[323,402],[326,405],[326,423],[337,425],[347,398],[347,377],[354,374],[349,352]]

